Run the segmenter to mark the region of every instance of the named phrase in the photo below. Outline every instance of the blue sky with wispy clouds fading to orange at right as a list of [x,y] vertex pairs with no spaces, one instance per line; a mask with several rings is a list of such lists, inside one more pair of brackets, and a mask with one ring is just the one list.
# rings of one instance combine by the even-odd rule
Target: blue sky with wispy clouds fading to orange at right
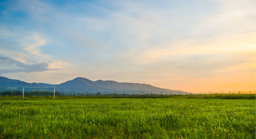
[[255,90],[255,1],[0,1],[0,76]]

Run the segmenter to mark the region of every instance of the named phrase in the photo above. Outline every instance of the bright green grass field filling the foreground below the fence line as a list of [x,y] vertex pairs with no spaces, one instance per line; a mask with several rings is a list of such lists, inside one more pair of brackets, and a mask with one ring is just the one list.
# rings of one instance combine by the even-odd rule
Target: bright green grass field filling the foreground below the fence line
[[0,98],[0,138],[255,138],[255,99]]

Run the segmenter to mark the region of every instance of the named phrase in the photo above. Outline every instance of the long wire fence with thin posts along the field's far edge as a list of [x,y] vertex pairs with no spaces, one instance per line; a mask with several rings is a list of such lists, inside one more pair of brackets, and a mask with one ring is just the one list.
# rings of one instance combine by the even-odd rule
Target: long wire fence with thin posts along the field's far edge
[[[222,94],[255,94],[254,91],[70,91],[55,92],[57,97],[138,97],[138,96],[173,96],[173,95],[222,95]],[[54,97],[52,91],[25,91],[25,96]],[[3,91],[0,96],[23,96],[22,91]]]

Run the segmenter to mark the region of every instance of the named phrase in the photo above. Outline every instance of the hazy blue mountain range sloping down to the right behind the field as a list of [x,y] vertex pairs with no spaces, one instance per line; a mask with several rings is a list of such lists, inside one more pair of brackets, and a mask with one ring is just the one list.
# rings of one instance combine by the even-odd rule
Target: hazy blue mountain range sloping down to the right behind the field
[[[47,83],[27,83],[20,80],[13,80],[6,77],[0,77],[0,91],[4,90],[22,90],[24,86],[28,87],[56,87],[56,91],[60,92],[107,92],[113,93],[116,91],[117,93],[122,93],[125,91],[127,94],[135,93],[143,94],[151,94],[153,91],[154,94],[180,94],[180,90],[170,90],[152,86],[150,84],[141,84],[141,83],[126,83],[126,82],[116,82],[116,81],[91,81],[86,78],[75,78],[73,80],[61,83],[61,84],[47,84]],[[32,90],[30,88],[26,88],[27,91]],[[40,90],[51,90],[48,88],[42,88]],[[187,94],[187,92],[181,91],[182,94]]]

